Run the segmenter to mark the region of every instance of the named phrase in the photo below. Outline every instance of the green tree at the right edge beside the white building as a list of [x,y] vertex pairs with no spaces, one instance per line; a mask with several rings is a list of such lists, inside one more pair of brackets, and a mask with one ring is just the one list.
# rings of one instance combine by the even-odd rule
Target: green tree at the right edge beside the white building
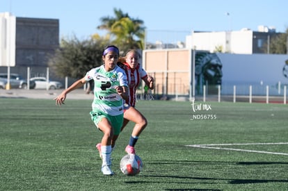
[[[275,35],[271,37],[269,44],[269,53],[287,53],[287,45],[288,44],[288,28],[286,29],[286,33],[281,33],[280,35]],[[268,46],[266,44],[266,46]]]

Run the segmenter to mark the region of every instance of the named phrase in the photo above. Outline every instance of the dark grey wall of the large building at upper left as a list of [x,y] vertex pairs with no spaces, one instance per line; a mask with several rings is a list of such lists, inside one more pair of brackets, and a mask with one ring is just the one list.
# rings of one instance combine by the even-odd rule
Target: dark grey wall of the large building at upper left
[[59,47],[58,19],[16,18],[16,65],[47,67]]

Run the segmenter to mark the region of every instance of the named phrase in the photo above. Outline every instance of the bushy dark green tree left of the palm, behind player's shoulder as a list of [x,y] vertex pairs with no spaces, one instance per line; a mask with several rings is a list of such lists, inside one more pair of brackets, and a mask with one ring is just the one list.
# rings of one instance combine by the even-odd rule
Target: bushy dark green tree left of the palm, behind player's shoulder
[[49,56],[48,65],[59,77],[81,78],[89,69],[102,65],[102,51],[110,42],[104,38],[80,41],[62,39],[60,48]]

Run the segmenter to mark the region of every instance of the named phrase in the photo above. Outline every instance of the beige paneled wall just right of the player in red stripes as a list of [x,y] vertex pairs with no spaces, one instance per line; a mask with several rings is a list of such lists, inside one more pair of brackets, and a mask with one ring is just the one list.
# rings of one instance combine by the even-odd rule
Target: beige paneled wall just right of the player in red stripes
[[191,49],[143,51],[143,68],[155,78],[155,94],[189,95]]

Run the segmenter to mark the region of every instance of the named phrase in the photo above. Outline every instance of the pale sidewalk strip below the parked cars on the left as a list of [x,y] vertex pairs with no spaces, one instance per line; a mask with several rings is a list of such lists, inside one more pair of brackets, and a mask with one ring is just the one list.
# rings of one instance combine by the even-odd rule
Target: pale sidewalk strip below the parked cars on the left
[[[11,89],[3,90],[0,89],[1,98],[29,98],[29,99],[54,99],[61,94],[62,90],[22,90],[22,89]],[[93,99],[93,94],[86,94],[84,90],[74,90],[67,94],[67,99]]]

